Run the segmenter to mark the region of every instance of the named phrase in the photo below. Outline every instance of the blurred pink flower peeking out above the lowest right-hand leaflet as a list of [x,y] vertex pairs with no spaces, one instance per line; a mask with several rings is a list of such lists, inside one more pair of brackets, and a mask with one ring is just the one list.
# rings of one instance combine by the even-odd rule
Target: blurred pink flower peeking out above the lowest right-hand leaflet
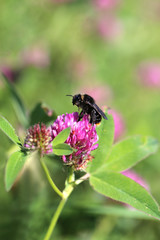
[[135,182],[137,182],[138,184],[140,184],[142,187],[144,187],[145,189],[149,190],[149,185],[146,183],[146,181],[139,176],[136,172],[134,172],[133,170],[126,170],[124,172],[121,172],[124,176],[131,178],[132,180],[134,180]]

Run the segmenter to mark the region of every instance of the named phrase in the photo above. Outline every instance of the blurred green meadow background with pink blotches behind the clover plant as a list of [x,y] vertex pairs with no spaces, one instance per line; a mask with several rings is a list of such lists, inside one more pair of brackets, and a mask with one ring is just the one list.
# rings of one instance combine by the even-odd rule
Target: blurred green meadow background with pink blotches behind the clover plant
[[[88,93],[121,116],[118,140],[151,135],[160,124],[159,0],[1,0],[0,70],[30,112],[39,101],[59,115],[76,111],[66,94]],[[24,136],[0,76],[0,113]],[[117,126],[117,127],[118,127]],[[7,193],[5,164],[12,147],[0,132],[0,239],[40,240],[59,201],[39,163],[30,161]],[[160,151],[134,170],[160,203]],[[47,159],[61,189],[65,168]],[[158,240],[159,222],[117,211],[121,206],[83,183],[71,195],[52,239]],[[101,209],[98,206],[104,206]],[[111,207],[110,207],[111,206]],[[118,208],[116,208],[118,209]]]

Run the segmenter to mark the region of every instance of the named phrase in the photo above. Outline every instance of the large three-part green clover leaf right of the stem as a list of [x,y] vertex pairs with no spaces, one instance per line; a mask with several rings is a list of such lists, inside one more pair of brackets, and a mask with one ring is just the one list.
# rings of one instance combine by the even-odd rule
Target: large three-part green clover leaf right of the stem
[[108,121],[104,121],[100,130],[99,148],[94,155],[95,159],[89,166],[90,184],[99,193],[130,204],[160,219],[160,212],[152,196],[130,178],[117,173],[155,153],[158,149],[158,141],[151,137],[135,136],[112,147],[114,127],[111,117]]

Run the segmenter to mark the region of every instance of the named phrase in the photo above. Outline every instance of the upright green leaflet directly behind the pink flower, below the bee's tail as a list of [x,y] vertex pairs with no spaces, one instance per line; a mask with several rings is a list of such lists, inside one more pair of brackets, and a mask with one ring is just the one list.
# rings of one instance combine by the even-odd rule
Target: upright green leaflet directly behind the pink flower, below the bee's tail
[[87,172],[93,173],[106,162],[114,140],[114,121],[112,115],[106,114],[108,120],[102,120],[100,126],[96,128],[99,137],[98,148],[93,152],[94,159],[89,164]]

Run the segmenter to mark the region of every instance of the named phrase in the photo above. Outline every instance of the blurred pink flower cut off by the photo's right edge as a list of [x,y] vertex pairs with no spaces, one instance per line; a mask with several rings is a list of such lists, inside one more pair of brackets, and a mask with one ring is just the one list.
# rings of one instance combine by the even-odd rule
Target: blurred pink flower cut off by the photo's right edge
[[144,62],[138,71],[140,81],[149,87],[160,87],[160,62]]

